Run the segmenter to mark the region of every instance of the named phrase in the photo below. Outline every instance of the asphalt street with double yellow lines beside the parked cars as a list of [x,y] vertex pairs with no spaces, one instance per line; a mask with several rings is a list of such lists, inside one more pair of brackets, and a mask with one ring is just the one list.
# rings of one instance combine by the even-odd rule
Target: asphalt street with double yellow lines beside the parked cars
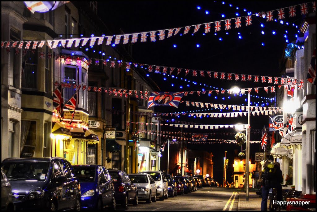
[[117,210],[237,210],[238,199],[237,189],[204,187],[164,201],[157,200],[150,204],[139,201],[138,206],[129,204],[126,209],[117,205]]

